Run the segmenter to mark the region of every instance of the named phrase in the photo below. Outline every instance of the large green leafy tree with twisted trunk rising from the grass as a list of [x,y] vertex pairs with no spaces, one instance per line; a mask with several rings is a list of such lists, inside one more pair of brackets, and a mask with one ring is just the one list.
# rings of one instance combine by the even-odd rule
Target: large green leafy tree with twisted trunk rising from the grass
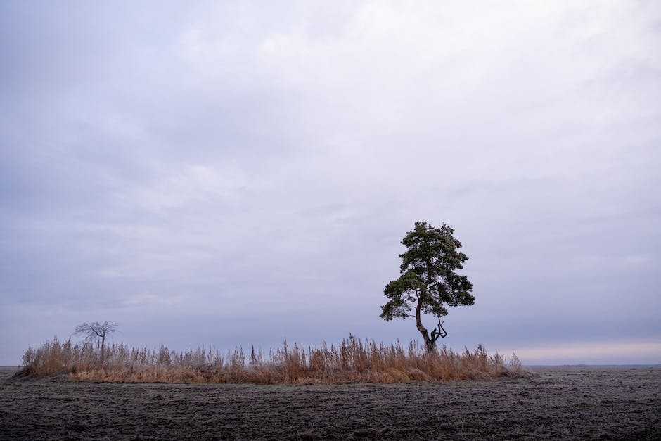
[[[446,224],[434,228],[427,222],[416,222],[413,231],[407,232],[402,239],[408,249],[399,255],[402,258],[401,275],[390,281],[383,291],[389,300],[381,307],[381,317],[386,321],[414,317],[428,350],[435,348],[439,337],[447,335],[440,321],[447,315],[446,306],[473,305],[475,302],[475,297],[470,294],[473,284],[467,276],[455,272],[463,269],[468,256],[458,251],[461,242],[453,234],[454,229]],[[411,314],[414,309],[415,314]],[[438,328],[431,335],[423,326],[422,314],[438,317]]]

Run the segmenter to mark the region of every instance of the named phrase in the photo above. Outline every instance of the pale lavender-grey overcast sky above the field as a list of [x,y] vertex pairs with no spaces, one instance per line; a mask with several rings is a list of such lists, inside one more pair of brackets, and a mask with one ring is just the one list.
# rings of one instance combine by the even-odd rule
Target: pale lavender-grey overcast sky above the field
[[416,221],[469,258],[448,347],[661,363],[657,1],[2,0],[0,65],[0,364],[419,341]]

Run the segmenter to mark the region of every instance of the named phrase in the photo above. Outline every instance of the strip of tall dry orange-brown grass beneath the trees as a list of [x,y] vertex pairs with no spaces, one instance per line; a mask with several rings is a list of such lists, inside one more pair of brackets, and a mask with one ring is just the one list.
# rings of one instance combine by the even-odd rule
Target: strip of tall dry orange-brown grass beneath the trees
[[229,353],[214,347],[177,352],[166,346],[148,350],[120,343],[105,347],[103,360],[99,345],[53,338],[25,352],[20,373],[79,381],[172,383],[408,383],[525,375],[515,355],[492,357],[482,345],[472,352],[445,346],[428,352],[415,342],[405,349],[399,342],[377,344],[353,335],[340,345],[323,343],[307,350],[290,347],[285,340],[267,357],[254,348],[246,356],[240,347]]

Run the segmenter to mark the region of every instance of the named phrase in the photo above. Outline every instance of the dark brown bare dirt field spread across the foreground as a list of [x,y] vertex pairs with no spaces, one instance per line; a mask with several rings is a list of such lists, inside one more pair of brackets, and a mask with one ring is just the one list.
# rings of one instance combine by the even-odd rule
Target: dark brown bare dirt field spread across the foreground
[[12,380],[0,439],[661,439],[661,367],[404,385]]

